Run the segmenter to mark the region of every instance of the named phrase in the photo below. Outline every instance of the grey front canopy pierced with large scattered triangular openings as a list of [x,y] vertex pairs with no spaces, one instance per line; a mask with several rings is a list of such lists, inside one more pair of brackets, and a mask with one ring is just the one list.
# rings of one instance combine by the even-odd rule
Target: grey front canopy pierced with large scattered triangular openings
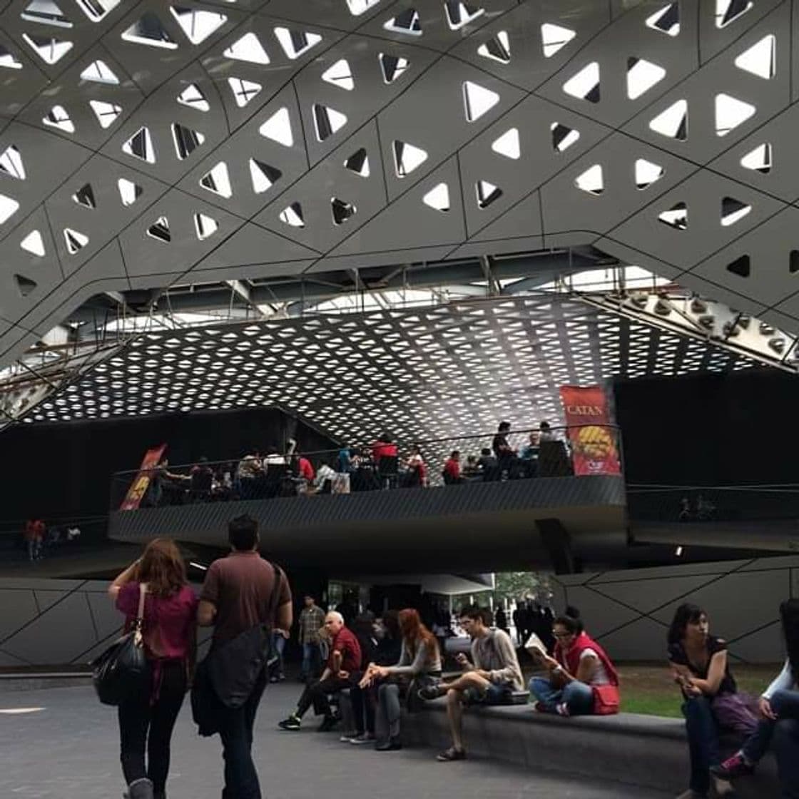
[[0,365],[102,292],[580,246],[795,330],[795,18],[0,2]]

